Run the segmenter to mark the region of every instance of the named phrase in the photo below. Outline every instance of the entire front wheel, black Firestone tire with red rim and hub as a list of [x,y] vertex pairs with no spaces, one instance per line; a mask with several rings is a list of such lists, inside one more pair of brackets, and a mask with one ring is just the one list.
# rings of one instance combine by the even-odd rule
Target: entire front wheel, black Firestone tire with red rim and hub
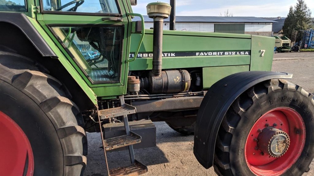
[[224,176],[308,172],[314,157],[313,109],[313,95],[286,80],[253,86],[234,101],[219,128],[215,172]]

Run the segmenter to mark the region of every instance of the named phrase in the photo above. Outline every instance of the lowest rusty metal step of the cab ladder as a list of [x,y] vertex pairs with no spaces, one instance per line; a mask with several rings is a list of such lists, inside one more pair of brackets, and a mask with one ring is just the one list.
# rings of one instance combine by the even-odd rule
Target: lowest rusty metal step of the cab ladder
[[114,168],[114,169],[111,169],[109,172],[110,172],[110,176],[122,176],[122,175],[136,176],[136,175],[141,175],[143,173],[146,173],[147,166],[135,160],[135,163],[131,165],[120,167],[120,168]]

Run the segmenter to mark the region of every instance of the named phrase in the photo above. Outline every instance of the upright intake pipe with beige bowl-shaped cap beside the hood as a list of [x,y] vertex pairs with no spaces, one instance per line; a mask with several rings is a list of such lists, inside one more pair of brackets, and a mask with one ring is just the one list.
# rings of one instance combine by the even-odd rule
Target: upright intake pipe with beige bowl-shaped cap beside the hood
[[153,76],[161,75],[162,67],[162,35],[164,19],[169,18],[171,6],[167,3],[149,3],[147,6],[149,18],[154,18],[153,36]]

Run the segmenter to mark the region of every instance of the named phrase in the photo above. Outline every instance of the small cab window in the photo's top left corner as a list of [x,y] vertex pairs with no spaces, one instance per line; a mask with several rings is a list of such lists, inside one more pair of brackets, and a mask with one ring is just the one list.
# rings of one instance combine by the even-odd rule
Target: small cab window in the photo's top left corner
[[0,11],[3,12],[27,12],[24,0],[0,0]]

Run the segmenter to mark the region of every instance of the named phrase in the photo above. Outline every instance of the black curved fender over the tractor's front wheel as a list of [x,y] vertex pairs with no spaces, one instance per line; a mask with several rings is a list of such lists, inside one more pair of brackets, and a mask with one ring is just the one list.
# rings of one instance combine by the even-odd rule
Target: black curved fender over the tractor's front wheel
[[244,91],[270,79],[291,79],[292,74],[272,71],[246,71],[229,75],[206,93],[198,111],[193,153],[205,168],[213,166],[217,133],[225,113]]

